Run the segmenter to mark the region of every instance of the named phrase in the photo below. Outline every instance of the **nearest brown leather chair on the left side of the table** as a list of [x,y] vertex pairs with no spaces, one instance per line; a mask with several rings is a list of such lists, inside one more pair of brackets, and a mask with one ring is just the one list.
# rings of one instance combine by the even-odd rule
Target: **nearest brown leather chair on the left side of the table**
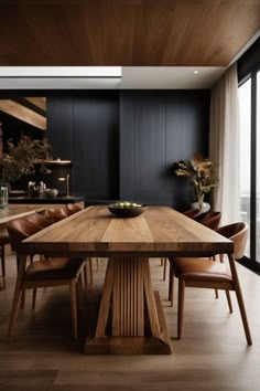
[[[41,231],[41,228],[26,219],[15,219],[7,223],[12,250],[17,252],[19,260],[19,246],[22,240]],[[86,260],[80,257],[50,257],[32,262],[22,274],[22,282],[17,298],[13,302],[13,308],[10,318],[9,340],[14,334],[19,304],[23,292],[33,289],[33,308],[35,307],[36,288],[54,287],[67,285],[71,290],[71,308],[73,319],[73,336],[77,339],[77,299],[76,285],[82,289],[82,274],[86,273]],[[85,275],[86,281],[86,275]],[[15,297],[15,296],[14,296]]]

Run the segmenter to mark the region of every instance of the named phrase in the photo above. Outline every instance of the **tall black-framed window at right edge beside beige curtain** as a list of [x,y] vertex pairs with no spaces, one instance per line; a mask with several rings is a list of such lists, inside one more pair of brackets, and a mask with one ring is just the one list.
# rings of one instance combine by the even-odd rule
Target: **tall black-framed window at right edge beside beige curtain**
[[239,87],[240,218],[250,228],[246,257],[260,272],[260,70]]

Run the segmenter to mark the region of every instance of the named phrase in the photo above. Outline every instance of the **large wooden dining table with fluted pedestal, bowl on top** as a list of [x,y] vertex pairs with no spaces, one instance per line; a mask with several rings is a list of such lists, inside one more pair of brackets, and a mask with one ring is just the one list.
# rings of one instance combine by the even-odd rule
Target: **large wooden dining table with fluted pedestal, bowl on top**
[[129,219],[116,218],[106,205],[89,207],[21,243],[14,296],[28,254],[107,257],[96,331],[86,336],[85,353],[171,353],[149,260],[232,251],[231,241],[167,207],[148,207]]

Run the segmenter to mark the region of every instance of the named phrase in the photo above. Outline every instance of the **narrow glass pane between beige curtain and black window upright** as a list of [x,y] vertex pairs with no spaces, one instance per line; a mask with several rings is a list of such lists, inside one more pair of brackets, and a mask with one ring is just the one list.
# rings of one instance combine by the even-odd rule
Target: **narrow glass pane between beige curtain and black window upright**
[[[240,113],[240,219],[250,226],[251,78],[239,87]],[[250,257],[248,240],[246,254]]]

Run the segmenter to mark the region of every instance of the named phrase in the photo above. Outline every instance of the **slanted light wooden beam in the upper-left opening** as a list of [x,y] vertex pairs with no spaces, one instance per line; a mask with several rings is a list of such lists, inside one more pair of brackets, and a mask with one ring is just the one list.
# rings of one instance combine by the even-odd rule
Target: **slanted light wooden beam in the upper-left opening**
[[46,117],[14,101],[0,99],[0,110],[23,120],[26,124],[35,126],[39,129],[46,130]]

